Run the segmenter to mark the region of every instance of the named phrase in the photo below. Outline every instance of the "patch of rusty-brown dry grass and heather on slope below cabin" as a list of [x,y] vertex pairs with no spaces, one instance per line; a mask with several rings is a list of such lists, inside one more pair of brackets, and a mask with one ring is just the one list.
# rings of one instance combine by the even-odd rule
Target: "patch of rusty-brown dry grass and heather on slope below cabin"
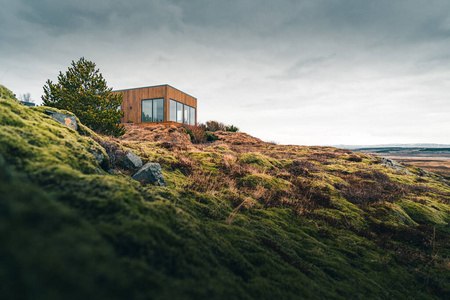
[[[133,138],[153,139],[159,147],[169,150],[175,160],[165,165],[186,176],[184,191],[230,199],[235,207],[227,220],[230,223],[243,207],[251,209],[255,204],[289,207],[297,214],[305,214],[333,208],[333,197],[343,197],[361,207],[392,203],[407,194],[415,199],[435,195],[443,202],[448,199],[447,194],[426,184],[392,180],[379,166],[364,163],[365,158],[370,159],[365,154],[330,147],[273,145],[245,133],[225,131],[215,131],[219,140],[214,143],[172,142],[170,135],[183,135],[183,130],[134,128],[123,139],[125,143]],[[155,140],[157,137],[160,139]]]

